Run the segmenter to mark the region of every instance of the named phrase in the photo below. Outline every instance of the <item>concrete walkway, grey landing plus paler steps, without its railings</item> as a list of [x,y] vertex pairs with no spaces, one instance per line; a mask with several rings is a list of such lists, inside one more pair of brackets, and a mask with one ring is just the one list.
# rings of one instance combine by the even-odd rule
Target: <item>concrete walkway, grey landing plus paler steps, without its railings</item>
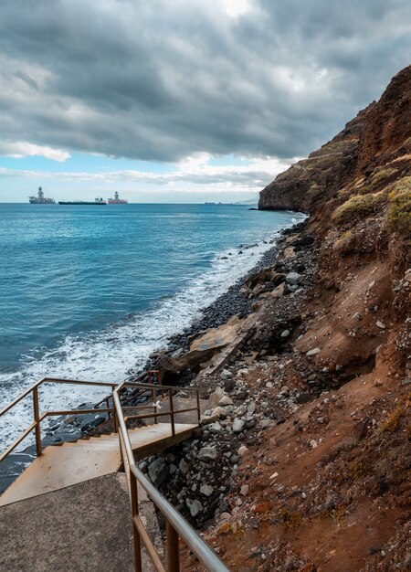
[[[177,423],[174,435],[170,423],[130,429],[135,459],[188,439],[196,427]],[[2,572],[132,572],[130,496],[120,469],[117,433],[43,450],[0,497]],[[141,486],[139,511],[161,554],[153,503]],[[142,569],[154,569],[144,550]]]

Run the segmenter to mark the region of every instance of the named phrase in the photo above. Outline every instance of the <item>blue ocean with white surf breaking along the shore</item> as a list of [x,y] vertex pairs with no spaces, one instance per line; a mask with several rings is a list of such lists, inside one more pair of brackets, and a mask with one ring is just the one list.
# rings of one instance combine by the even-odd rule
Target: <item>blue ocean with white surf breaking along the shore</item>
[[[44,376],[120,382],[302,217],[229,205],[1,204],[0,407]],[[50,385],[40,410],[105,393]],[[26,398],[0,420],[3,447],[31,418]]]

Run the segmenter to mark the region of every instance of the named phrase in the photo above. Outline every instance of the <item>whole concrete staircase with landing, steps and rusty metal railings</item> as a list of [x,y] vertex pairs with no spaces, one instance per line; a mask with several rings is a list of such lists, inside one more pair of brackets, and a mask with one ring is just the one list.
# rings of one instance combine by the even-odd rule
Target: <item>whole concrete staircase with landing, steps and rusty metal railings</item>
[[[34,420],[0,453],[0,461],[31,432],[37,452],[0,496],[2,572],[175,572],[181,569],[180,541],[206,570],[228,572],[138,466],[142,458],[190,438],[205,406],[198,389],[154,385],[154,373],[142,375],[149,376],[149,384],[44,377],[0,411],[3,417],[25,397],[33,400]],[[40,412],[38,389],[49,383],[111,387],[111,396],[91,408]],[[117,432],[43,449],[45,418],[96,412],[111,418]],[[145,425],[128,429],[135,422]],[[156,510],[165,520],[166,555]]]

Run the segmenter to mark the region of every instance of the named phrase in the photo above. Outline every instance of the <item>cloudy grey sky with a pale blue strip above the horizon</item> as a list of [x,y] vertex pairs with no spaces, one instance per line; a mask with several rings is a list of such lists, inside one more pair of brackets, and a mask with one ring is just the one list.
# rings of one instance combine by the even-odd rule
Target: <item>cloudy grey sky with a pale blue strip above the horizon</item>
[[409,0],[1,0],[0,202],[235,202],[411,54]]

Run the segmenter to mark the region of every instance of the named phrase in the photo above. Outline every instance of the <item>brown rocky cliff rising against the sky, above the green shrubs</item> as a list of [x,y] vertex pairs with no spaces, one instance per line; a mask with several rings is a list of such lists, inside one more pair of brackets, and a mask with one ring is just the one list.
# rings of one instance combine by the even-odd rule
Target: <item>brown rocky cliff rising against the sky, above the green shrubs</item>
[[410,153],[411,66],[396,74],[380,101],[360,111],[332,141],[266,186],[258,207],[312,215],[338,198],[343,187],[359,177],[371,178],[393,161],[401,167],[397,175],[408,175]]

